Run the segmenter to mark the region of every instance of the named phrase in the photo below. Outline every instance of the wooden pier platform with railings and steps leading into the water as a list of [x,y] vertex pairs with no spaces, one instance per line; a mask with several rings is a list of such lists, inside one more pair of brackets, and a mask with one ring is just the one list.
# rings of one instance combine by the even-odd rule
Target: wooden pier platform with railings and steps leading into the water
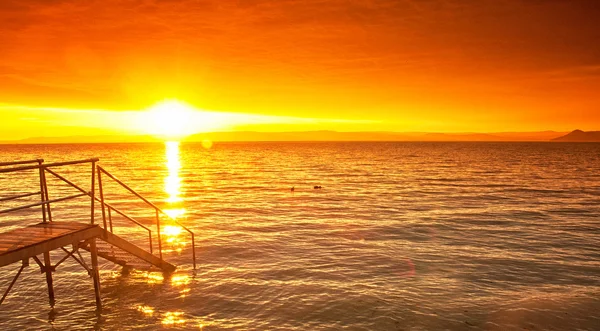
[[[0,298],[0,305],[7,298],[23,269],[30,266],[31,260],[33,260],[39,266],[40,272],[45,275],[48,286],[48,297],[50,305],[52,306],[54,305],[55,300],[52,278],[53,273],[56,271],[58,266],[60,266],[69,258],[75,260],[79,265],[81,265],[92,278],[96,306],[98,309],[101,309],[102,307],[98,257],[104,258],[123,267],[143,268],[151,266],[158,268],[163,272],[173,272],[175,270],[176,267],[174,265],[163,260],[162,258],[160,222],[161,215],[167,217],[168,215],[166,215],[166,213],[155,204],[148,201],[135,190],[110,174],[108,171],[100,166],[97,166],[97,162],[98,159],[88,159],[81,161],[44,164],[42,159],[37,159],[0,163],[0,174],[37,170],[36,173],[39,175],[40,182],[39,191],[36,192],[19,193],[9,197],[0,195],[0,203],[6,201],[19,201],[19,199],[31,196],[40,197],[39,202],[0,210],[0,217],[3,216],[3,214],[13,213],[22,209],[41,207],[42,210],[40,223],[0,232],[0,268],[13,263],[21,263],[20,269],[10,282],[2,298]],[[53,170],[57,167],[81,164],[91,164],[89,191],[86,191]],[[72,188],[79,191],[79,193],[67,197],[56,198],[52,200],[49,199],[46,174],[53,175],[54,177],[62,180]],[[124,187],[154,210],[157,235],[156,239],[158,241],[158,256],[153,254],[152,230],[105,201],[104,190],[102,187],[102,174],[108,176],[109,179]],[[97,184],[96,175],[98,179]],[[95,194],[96,185],[98,186],[100,195],[99,197]],[[2,186],[0,186],[0,188],[1,187]],[[2,194],[2,190],[0,190],[0,194]],[[56,204],[58,202],[76,199],[79,197],[90,198],[89,220],[53,220],[51,204]],[[102,222],[99,224],[95,222],[94,217],[94,207],[98,203],[102,208]],[[123,216],[126,220],[148,232],[149,251],[141,248],[131,241],[128,241],[126,238],[113,233],[113,213]],[[171,220],[171,222],[177,223],[175,220]],[[192,256],[195,269],[196,254],[194,233],[187,227],[179,223],[177,224],[187,231],[191,236]],[[0,218],[0,231],[2,231],[3,228],[4,225],[2,224],[2,218]],[[64,256],[56,263],[52,264],[52,261],[50,260],[50,252],[54,250],[61,250],[64,253]],[[90,253],[91,266],[86,263],[81,251],[87,251]],[[39,256],[41,256],[41,258]],[[142,263],[141,265],[140,262]]]

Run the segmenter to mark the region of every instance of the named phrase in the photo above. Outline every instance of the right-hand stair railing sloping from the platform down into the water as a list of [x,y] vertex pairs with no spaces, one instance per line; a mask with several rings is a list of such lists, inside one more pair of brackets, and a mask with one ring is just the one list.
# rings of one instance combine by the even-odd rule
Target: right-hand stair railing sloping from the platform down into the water
[[[194,233],[190,229],[188,229],[186,226],[184,226],[183,224],[179,223],[176,219],[172,218],[164,210],[162,210],[161,208],[159,208],[158,206],[156,206],[154,203],[148,201],[148,199],[144,198],[141,194],[139,194],[134,189],[132,189],[131,187],[129,187],[129,185],[123,183],[117,177],[115,177],[114,175],[112,175],[111,173],[109,173],[108,171],[106,171],[106,169],[102,168],[101,166],[97,166],[97,168],[98,168],[98,188],[99,188],[99,193],[100,193],[101,205],[102,206],[110,206],[109,204],[107,204],[104,201],[104,192],[103,192],[103,188],[102,188],[102,174],[105,174],[110,179],[112,179],[115,183],[119,184],[121,187],[123,187],[124,189],[126,189],[127,191],[129,191],[131,194],[135,195],[140,200],[142,200],[143,202],[145,202],[148,206],[150,206],[150,207],[152,207],[154,209],[154,211],[155,211],[155,217],[156,217],[156,234],[157,234],[157,239],[158,239],[158,254],[159,254],[159,257],[161,259],[162,259],[162,240],[161,240],[161,232],[160,232],[160,215],[165,215],[165,216],[169,217],[170,220],[173,223],[177,224],[182,229],[184,229],[187,233],[189,233],[189,235],[192,238],[192,259],[193,259],[194,269],[196,269],[196,241],[195,241],[195,238],[194,238]],[[114,208],[113,208],[113,210],[117,211]],[[121,213],[119,213],[119,214],[121,214]],[[104,222],[104,228],[105,229],[106,229],[106,225],[107,225],[106,215],[107,215],[107,213],[104,211],[104,207],[103,207],[102,208],[102,219],[103,219],[103,222]],[[123,215],[123,214],[121,214],[121,215]],[[125,215],[123,215],[123,216],[125,216]],[[112,232],[112,217],[111,217],[111,214],[110,214],[110,208],[108,208],[108,225],[109,225],[109,227],[111,229],[111,232]]]

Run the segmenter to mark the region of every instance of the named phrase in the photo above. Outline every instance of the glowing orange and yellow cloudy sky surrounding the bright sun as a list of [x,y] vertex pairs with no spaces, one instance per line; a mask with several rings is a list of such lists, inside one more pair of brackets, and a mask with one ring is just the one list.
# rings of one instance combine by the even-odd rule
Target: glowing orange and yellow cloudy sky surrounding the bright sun
[[228,130],[597,130],[598,17],[596,0],[2,0],[0,139],[126,133],[163,99],[258,116]]

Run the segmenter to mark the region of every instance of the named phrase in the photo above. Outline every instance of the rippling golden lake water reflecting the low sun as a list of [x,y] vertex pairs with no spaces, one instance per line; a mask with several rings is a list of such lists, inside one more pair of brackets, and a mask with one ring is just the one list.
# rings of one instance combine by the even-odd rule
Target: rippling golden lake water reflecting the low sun
[[[99,157],[194,231],[198,266],[176,227],[163,238],[172,275],[101,259],[97,314],[76,262],[54,274],[51,308],[32,260],[0,306],[1,330],[600,330],[600,144],[0,145],[0,161],[34,157]],[[90,185],[89,165],[56,171]],[[0,196],[36,180],[2,175]],[[51,198],[77,193],[49,186]],[[151,209],[105,191],[155,229]],[[55,222],[89,221],[89,199],[52,208]],[[0,269],[1,292],[18,268]]]

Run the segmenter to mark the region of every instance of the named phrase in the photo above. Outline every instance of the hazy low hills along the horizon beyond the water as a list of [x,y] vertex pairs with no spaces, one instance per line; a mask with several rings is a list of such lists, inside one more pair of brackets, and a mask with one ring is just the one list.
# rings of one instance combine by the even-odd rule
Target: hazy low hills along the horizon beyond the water
[[[22,140],[0,141],[0,144],[69,144],[69,143],[142,143],[161,142],[149,135],[104,135],[37,137]],[[494,132],[494,133],[428,133],[428,132],[208,132],[186,137],[184,141],[200,142],[258,142],[258,141],[555,141],[600,142],[600,131],[575,130],[570,133],[541,132]]]

